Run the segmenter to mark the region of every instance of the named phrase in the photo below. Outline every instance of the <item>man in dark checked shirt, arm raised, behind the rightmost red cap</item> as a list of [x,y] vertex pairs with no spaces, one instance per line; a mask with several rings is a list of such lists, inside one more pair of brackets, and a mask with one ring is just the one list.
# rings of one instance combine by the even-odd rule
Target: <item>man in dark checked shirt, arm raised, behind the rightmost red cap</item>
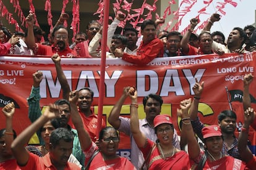
[[[194,91],[194,100],[192,102],[192,106],[190,108],[190,119],[194,129],[194,132],[197,136],[203,140],[202,129],[204,124],[200,121],[197,116],[198,113],[198,103],[201,99],[201,95],[203,92],[203,84],[198,83],[197,79],[195,79],[195,85],[192,88]],[[236,113],[232,110],[223,110],[218,115],[218,125],[221,128],[221,133],[223,135],[223,147],[221,153],[223,155],[230,155],[234,158],[240,158],[238,148],[237,148],[237,138],[234,136],[234,131],[236,130]]]

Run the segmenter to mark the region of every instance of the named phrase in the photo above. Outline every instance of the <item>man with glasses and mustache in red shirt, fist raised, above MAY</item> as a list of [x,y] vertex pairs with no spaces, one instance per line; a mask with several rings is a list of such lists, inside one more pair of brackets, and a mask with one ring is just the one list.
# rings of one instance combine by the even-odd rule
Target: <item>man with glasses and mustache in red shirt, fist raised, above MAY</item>
[[35,23],[34,14],[29,14],[26,18],[28,25],[27,44],[28,47],[36,49],[36,55],[53,55],[58,53],[61,56],[75,57],[77,53],[69,48],[69,31],[64,25],[54,27],[51,38],[53,46],[46,46],[35,42],[33,34],[33,24]]

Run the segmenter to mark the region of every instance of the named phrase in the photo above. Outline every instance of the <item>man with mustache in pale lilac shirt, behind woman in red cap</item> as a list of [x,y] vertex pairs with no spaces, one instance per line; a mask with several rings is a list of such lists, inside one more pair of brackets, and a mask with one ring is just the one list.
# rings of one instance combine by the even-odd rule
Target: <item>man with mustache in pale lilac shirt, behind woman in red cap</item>
[[[137,147],[132,136],[132,132],[130,131],[130,119],[120,116],[122,105],[124,104],[126,98],[129,96],[129,89],[129,86],[124,87],[121,98],[110,111],[110,114],[108,116],[108,122],[114,128],[118,129],[118,131],[124,132],[127,136],[130,136],[130,159],[134,164],[135,168],[139,169],[144,161],[142,152],[140,152],[139,148]],[[156,94],[149,94],[143,99],[143,106],[146,113],[146,118],[139,119],[139,126],[140,130],[145,134],[145,136],[147,136],[147,138],[152,141],[156,141],[157,139],[153,126],[153,120],[155,119],[156,115],[160,114],[162,104],[163,99]],[[175,129],[173,132],[173,145],[176,148],[180,148],[179,139]]]

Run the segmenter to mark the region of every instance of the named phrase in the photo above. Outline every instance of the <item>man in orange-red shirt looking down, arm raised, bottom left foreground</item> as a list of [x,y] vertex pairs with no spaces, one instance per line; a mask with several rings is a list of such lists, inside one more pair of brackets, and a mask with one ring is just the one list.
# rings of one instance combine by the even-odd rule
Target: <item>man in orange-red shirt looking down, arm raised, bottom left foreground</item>
[[45,123],[56,118],[58,113],[58,105],[50,104],[43,115],[22,131],[12,142],[12,153],[21,169],[80,169],[76,164],[67,161],[72,153],[74,136],[71,131],[64,127],[59,127],[51,132],[49,153],[45,156],[39,157],[34,155],[24,147],[28,140],[30,140],[30,137]]

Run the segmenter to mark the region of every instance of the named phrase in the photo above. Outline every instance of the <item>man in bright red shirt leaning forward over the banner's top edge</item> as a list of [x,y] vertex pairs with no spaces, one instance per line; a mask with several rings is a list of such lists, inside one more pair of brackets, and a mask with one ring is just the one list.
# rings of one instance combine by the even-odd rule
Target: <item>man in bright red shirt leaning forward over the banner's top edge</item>
[[137,65],[146,65],[156,57],[163,57],[164,46],[163,42],[156,38],[155,22],[145,20],[141,26],[141,34],[143,35],[143,39],[137,51],[137,55],[124,53],[121,49],[116,49],[114,55]]

